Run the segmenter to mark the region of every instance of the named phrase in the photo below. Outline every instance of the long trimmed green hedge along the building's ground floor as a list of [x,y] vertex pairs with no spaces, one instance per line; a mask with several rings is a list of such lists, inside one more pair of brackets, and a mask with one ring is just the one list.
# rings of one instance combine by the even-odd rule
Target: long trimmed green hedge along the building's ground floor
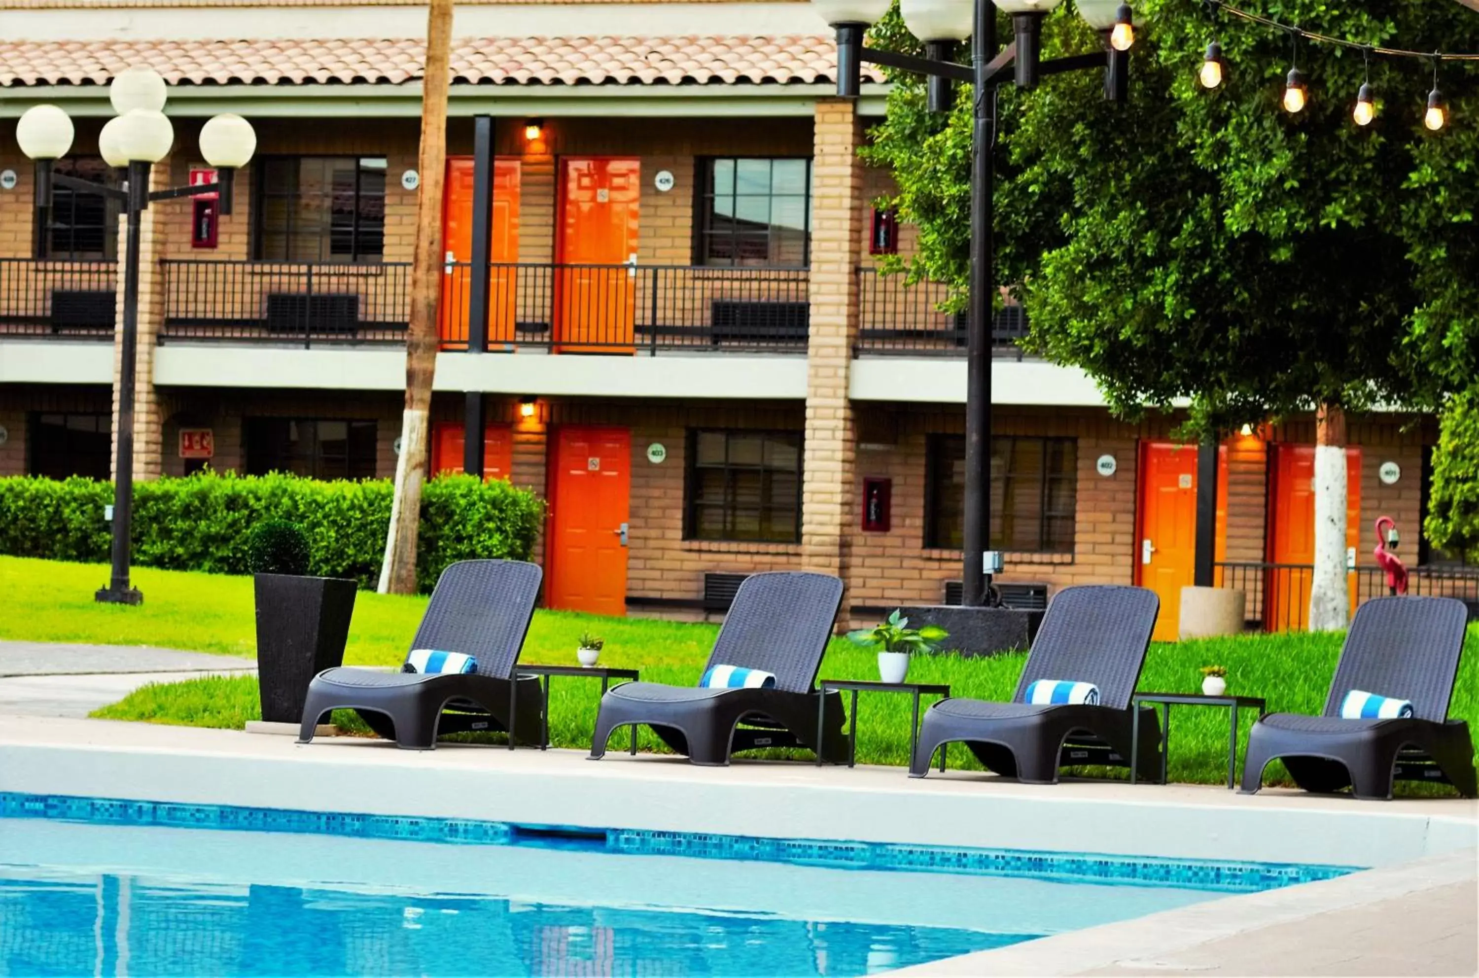
[[[319,482],[293,475],[201,472],[136,482],[133,561],[145,567],[248,573],[251,528],[265,519],[308,534],[309,574],[353,577],[374,587],[390,525],[389,479]],[[112,484],[71,478],[0,478],[0,553],[106,562],[104,506]],[[527,561],[544,500],[506,481],[445,475],[422,490],[416,580],[426,592],[448,564],[470,558]]]

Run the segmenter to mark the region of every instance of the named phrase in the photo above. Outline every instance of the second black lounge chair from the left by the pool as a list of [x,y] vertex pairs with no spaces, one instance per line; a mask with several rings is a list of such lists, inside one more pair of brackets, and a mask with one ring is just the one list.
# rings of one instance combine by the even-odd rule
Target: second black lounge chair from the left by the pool
[[[726,765],[732,753],[762,747],[818,750],[816,710],[822,700],[812,685],[840,604],[842,581],[836,577],[802,571],[751,574],[740,584],[704,669],[760,669],[775,675],[775,688],[623,684],[600,698],[592,761],[606,753],[606,741],[621,726],[633,728],[636,753],[639,724],[701,765]],[[825,743],[819,752],[828,761],[847,758],[842,728],[842,697],[828,697]]]

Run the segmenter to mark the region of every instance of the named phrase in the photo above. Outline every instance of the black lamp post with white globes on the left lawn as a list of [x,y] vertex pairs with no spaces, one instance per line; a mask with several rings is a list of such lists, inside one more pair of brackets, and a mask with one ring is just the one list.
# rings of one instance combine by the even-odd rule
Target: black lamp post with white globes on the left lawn
[[[136,605],[143,595],[129,584],[129,533],[133,522],[133,395],[139,346],[139,216],[151,201],[195,194],[219,194],[220,213],[231,213],[231,189],[238,169],[251,160],[257,136],[240,115],[216,115],[200,130],[200,152],[216,167],[217,182],[149,191],[149,172],[169,155],[175,127],[164,115],[164,78],[152,68],[129,68],[114,77],[108,99],[118,112],[98,133],[98,151],[108,166],[124,170],[123,188],[53,173],[56,160],[72,145],[72,120],[55,105],[34,105],[15,127],[21,151],[35,161],[35,204],[52,204],[52,188],[117,200],[127,217],[123,265],[123,333],[114,399],[118,422],[114,438],[112,579],[96,593],[98,601]],[[44,213],[44,210],[43,210]]]

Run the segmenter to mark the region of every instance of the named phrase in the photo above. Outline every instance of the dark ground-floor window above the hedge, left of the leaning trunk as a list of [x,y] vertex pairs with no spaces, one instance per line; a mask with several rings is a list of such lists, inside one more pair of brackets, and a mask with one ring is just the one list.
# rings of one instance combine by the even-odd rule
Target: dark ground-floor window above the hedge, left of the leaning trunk
[[371,479],[376,423],[248,417],[246,469],[247,475],[291,472],[314,479]]

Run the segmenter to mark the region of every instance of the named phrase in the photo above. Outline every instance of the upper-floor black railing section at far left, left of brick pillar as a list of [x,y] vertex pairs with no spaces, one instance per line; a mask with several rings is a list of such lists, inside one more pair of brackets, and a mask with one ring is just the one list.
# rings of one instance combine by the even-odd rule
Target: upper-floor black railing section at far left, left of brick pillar
[[118,263],[0,259],[0,336],[112,339]]

